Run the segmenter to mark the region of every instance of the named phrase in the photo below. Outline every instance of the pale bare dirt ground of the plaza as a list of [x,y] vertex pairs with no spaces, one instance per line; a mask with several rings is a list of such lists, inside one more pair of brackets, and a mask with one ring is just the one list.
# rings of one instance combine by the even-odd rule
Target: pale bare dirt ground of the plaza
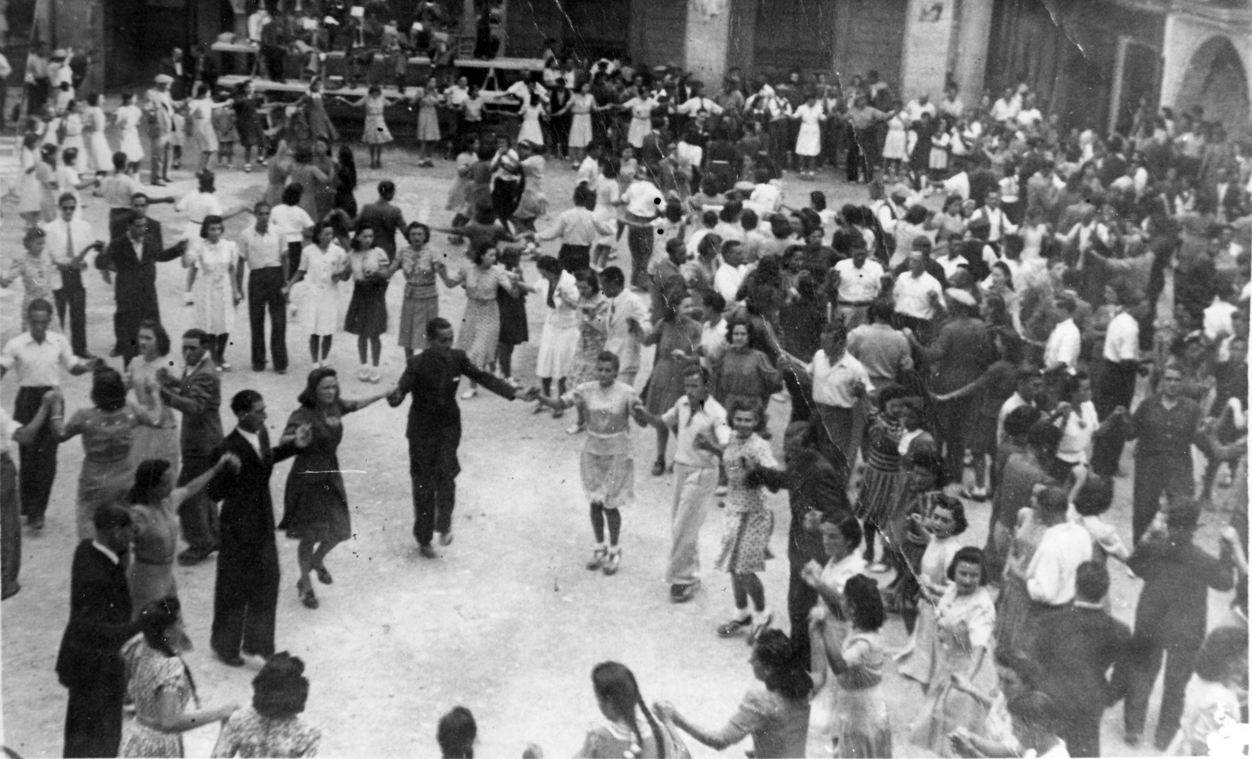
[[[364,152],[358,160],[364,164]],[[398,203],[406,218],[444,224],[447,188],[453,177],[451,162],[419,169],[401,149],[384,155],[383,170],[362,170],[358,203],[374,198],[378,180],[398,184]],[[184,194],[194,189],[190,173],[175,173],[168,189]],[[864,185],[836,182],[829,172],[816,183],[785,179],[789,204],[801,207],[811,189],[826,192],[830,205],[865,202]],[[552,215],[570,205],[573,172],[567,164],[550,163],[545,190],[552,200]],[[218,193],[228,208],[250,205],[264,188],[264,173],[244,174],[238,169],[219,172]],[[86,217],[104,234],[106,209],[99,198],[84,195]],[[165,239],[175,239],[183,219],[169,205],[154,205],[153,217],[164,222]],[[243,214],[228,223],[228,237],[252,224]],[[19,256],[21,222],[5,208],[0,249],[5,261]],[[463,248],[434,235],[434,247],[459,261]],[[547,244],[547,252],[555,252]],[[618,262],[627,261],[625,243]],[[532,262],[526,278],[538,279]],[[113,344],[111,287],[91,271],[88,282],[89,347],[106,354]],[[183,306],[184,271],[177,264],[159,267],[158,288],[162,314],[174,336],[190,326],[194,309]],[[398,276],[388,292],[392,332],[384,336],[383,382],[363,385],[356,380],[357,357],[353,336],[334,338],[332,364],[341,372],[344,397],[359,397],[388,387],[399,377],[403,354],[396,346],[394,318],[402,294]],[[346,308],[351,287],[341,286]],[[0,292],[0,317],[5,341],[18,334],[21,303],[20,284]],[[441,286],[441,313],[453,324],[459,321],[462,291]],[[532,342],[518,349],[515,367],[523,383],[533,381],[532,367],[542,327],[541,298],[528,299]],[[247,309],[237,312],[228,358],[234,371],[222,374],[223,398],[245,387],[264,395],[270,417],[270,435],[277,438],[287,416],[295,408],[295,396],[309,369],[307,336],[298,319],[288,331],[293,357],[290,372],[254,373],[248,366]],[[120,368],[120,359],[110,359]],[[640,387],[646,380],[640,376]],[[89,403],[88,377],[65,382],[66,408],[73,412]],[[3,402],[11,408],[14,382],[3,387]],[[621,571],[612,577],[583,569],[591,550],[591,530],[577,473],[582,438],[568,436],[570,420],[531,415],[530,405],[507,403],[490,393],[462,401],[464,437],[461,447],[463,472],[458,480],[454,517],[456,541],[441,549],[442,556],[418,556],[411,535],[412,502],[404,441],[406,406],[392,410],[386,403],[352,415],[344,421],[339,462],[344,470],[352,509],[354,537],[327,560],[334,584],[317,586],[321,609],[300,606],[294,590],[295,545],[279,536],[283,567],[278,607],[278,648],[302,656],[312,683],[307,718],[323,730],[323,756],[431,756],[437,755],[434,725],[456,704],[473,710],[478,719],[482,756],[517,756],[527,743],[541,744],[547,755],[572,754],[581,745],[587,725],[598,718],[590,683],[591,668],[613,659],[636,674],[646,699],[672,701],[692,720],[720,726],[745,689],[752,686],[744,640],[719,639],[715,626],[731,610],[729,579],[712,570],[721,534],[720,515],[710,514],[701,537],[704,586],[695,600],[674,605],[661,575],[669,550],[669,511],[672,477],[647,473],[654,457],[654,436],[636,430],[636,502],[625,512]],[[771,410],[775,452],[780,453],[781,428],[788,413]],[[233,417],[223,407],[229,430]],[[1131,473],[1133,446],[1128,447],[1123,472]],[[53,671],[60,635],[69,614],[68,587],[74,550],[74,493],[83,452],[79,441],[61,447],[59,476],[41,534],[23,536],[20,594],[0,609],[3,645],[4,744],[24,756],[55,756],[61,751],[65,690]],[[289,463],[275,468],[272,481],[278,507]],[[1224,507],[1229,491],[1218,491]],[[1109,519],[1129,535],[1128,477],[1119,477]],[[789,512],[785,495],[770,496],[775,512],[774,554],[785,556]],[[970,530],[964,541],[983,545],[988,506],[968,503]],[[1216,532],[1226,522],[1221,511],[1207,512],[1201,545],[1214,550]],[[762,579],[775,619],[785,626],[786,561],[775,559]],[[1111,564],[1114,614],[1131,622],[1141,582],[1121,565]],[[232,669],[218,663],[208,650],[212,616],[214,560],[195,567],[177,567],[179,594],[188,631],[197,649],[187,655],[200,700],[205,705],[250,701],[249,681],[258,666]],[[1229,602],[1228,594],[1209,599],[1212,625]],[[890,617],[886,644],[899,650],[906,643],[899,617]],[[896,755],[919,755],[906,745],[908,724],[918,713],[918,686],[898,678],[889,665],[886,694],[896,736]],[[830,755],[830,743],[821,734],[825,698],[814,706],[810,755]],[[1156,701],[1149,711],[1154,724]],[[1121,706],[1104,718],[1106,755],[1152,755],[1149,749],[1128,749],[1121,740]],[[218,726],[187,735],[187,755],[207,756]],[[696,756],[714,755],[694,740],[687,745]],[[746,744],[724,751],[742,755]]]

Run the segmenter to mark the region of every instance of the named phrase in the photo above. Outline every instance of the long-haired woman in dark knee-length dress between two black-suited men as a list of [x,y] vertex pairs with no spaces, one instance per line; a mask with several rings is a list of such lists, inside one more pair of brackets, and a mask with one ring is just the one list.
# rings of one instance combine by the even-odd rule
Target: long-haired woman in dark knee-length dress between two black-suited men
[[299,396],[300,407],[287,420],[284,435],[308,426],[312,431],[309,445],[295,455],[295,462],[287,476],[283,495],[283,521],[279,530],[300,541],[297,557],[300,565],[295,589],[300,602],[317,609],[309,572],[316,571],[323,585],[333,579],[326,569],[326,556],[334,546],[352,537],[352,520],[348,515],[348,493],[339,473],[339,442],[343,440],[343,415],[359,411],[374,401],[387,397],[387,392],[358,401],[339,397],[339,378],[329,367],[309,372],[308,385]]

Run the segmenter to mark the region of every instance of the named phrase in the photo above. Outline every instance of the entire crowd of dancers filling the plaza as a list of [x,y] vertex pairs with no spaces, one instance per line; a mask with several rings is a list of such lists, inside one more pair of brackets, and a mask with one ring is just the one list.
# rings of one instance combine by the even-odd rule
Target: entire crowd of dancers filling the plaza
[[[377,20],[369,5],[362,18]],[[436,4],[419,5],[428,15],[413,34],[439,19]],[[339,25],[321,15],[299,28]],[[263,46],[272,26],[285,23],[259,24]],[[351,50],[357,26],[343,26]],[[939,104],[901,103],[873,73],[749,84],[732,70],[705,96],[665,68],[556,51],[546,61],[510,89],[517,124],[473,125],[476,93],[447,78],[411,100],[423,160],[457,154],[442,227],[406,219],[389,179],[358,208],[353,149],[326,113],[317,71],[297,105],[270,108],[248,85],[215,100],[205,66],[179,63],[111,115],[118,150],[99,95],[80,104],[73,76],[55,75],[70,95],[26,121],[25,250],[0,278],[24,291],[23,332],[0,351],[19,387],[13,417],[0,420],[0,545],[9,597],[20,589],[20,516],[44,529],[58,447],[81,436],[81,542],[56,666],[69,689],[65,755],[179,755],[182,731],[215,720],[225,725],[214,755],[312,755],[319,731],[298,716],[303,664],[275,653],[274,532],[299,541],[297,592],[318,609],[313,577],[333,582],[327,557],[352,536],[343,417],[411,397],[413,535],[438,557],[436,541],[447,549],[454,534],[458,396],[468,402],[480,387],[535,413],[571,412],[567,432],[583,436],[588,570],[612,576],[625,561],[632,423],[654,430],[651,476],[672,477],[664,571],[675,604],[700,592],[701,527],[715,505],[724,514],[716,569],[731,594],[710,629],[747,638],[761,686],[707,729],[674,704],[647,705],[625,665],[602,663],[592,685],[606,723],[578,755],[684,755],[682,735],[715,749],[751,735],[756,756],[804,755],[811,698],[829,688],[839,756],[906,746],[1093,756],[1119,700],[1127,745],[1143,740],[1162,664],[1158,750],[1202,754],[1223,724],[1247,721],[1246,144],[1198,109],[1177,119],[1141,109],[1129,134],[1067,132],[1025,85],[968,105],[952,85]],[[172,86],[188,76],[179,104]],[[381,167],[392,142],[382,88],[358,105]],[[174,135],[187,138],[179,154]],[[232,142],[249,150],[245,170],[253,155],[267,169],[265,197],[248,208],[215,195],[214,160]],[[149,185],[138,179],[145,152]],[[567,157],[572,207],[550,218],[543,175]],[[198,189],[158,197],[178,159]],[[835,209],[823,192],[786,194],[785,177],[813,179],[821,167],[864,180],[866,203]],[[106,233],[81,214],[93,187],[110,209]],[[185,214],[174,244],[148,217],[162,202]],[[225,220],[245,213],[228,239]],[[437,249],[434,233],[463,256]],[[542,250],[550,240],[555,256]],[[155,289],[156,264],[173,261],[194,303],[180,374],[168,368]],[[115,289],[114,344],[100,352],[120,371],[88,346],[89,267]],[[397,273],[407,362],[376,392]],[[441,311],[439,282],[464,289],[459,321]],[[545,306],[533,371],[513,364],[531,341],[530,297]],[[312,371],[277,445],[253,390],[228,400],[234,430],[222,423],[244,301],[253,372],[295,363],[292,309],[308,336]],[[54,313],[69,337],[50,329]],[[331,366],[341,331],[357,337],[353,398]],[[91,373],[91,406],[68,421],[66,372]],[[771,425],[771,406],[785,425]],[[275,522],[269,481],[285,458]],[[1122,535],[1103,515],[1127,467],[1133,516]],[[1229,488],[1228,507],[1217,487]],[[765,491],[786,491],[790,511],[789,589],[774,606],[760,577],[774,559]],[[979,502],[990,502],[990,520],[974,546],[967,506]],[[1198,545],[1212,545],[1209,525],[1216,555]],[[210,648],[229,666],[265,660],[250,709],[203,708],[179,659],[189,641],[173,565],[215,552]],[[1137,577],[1133,629],[1109,614],[1109,559]],[[1229,610],[1212,610],[1216,629],[1209,589],[1234,590]],[[899,653],[880,632],[891,616],[909,634]],[[894,676],[920,688],[915,714],[888,714],[893,654]],[[468,710],[446,715],[444,755],[472,755],[475,731]]]

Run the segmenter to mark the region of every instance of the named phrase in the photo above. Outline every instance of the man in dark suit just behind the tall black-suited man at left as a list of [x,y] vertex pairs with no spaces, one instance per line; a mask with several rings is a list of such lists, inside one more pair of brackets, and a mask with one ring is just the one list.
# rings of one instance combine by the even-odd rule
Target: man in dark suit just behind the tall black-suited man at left
[[[182,380],[175,380],[164,367],[156,369],[162,400],[183,412],[179,441],[183,468],[178,475],[179,486],[209,471],[217,461],[213,453],[222,442],[222,416],[218,412],[222,406],[222,381],[209,354],[212,339],[214,337],[203,329],[188,329],[183,333],[183,359],[187,367]],[[178,507],[178,521],[188,546],[178,555],[178,562],[183,566],[199,564],[218,550],[217,511],[208,493],[187,498]]]

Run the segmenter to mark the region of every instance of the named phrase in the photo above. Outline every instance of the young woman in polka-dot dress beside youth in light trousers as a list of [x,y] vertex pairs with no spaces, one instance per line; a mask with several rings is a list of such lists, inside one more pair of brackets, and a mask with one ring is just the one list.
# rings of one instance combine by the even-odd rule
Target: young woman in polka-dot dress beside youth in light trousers
[[[770,443],[755,432],[761,420],[760,403],[755,398],[736,398],[727,411],[735,435],[721,451],[727,487],[717,569],[730,572],[735,616],[717,627],[717,635],[729,638],[750,627],[747,643],[751,644],[772,619],[765,605],[765,586],[756,572],[765,571],[765,560],[770,557],[774,514],[765,506],[754,471],[780,467]],[[752,600],[751,610],[747,607],[749,599]]]

